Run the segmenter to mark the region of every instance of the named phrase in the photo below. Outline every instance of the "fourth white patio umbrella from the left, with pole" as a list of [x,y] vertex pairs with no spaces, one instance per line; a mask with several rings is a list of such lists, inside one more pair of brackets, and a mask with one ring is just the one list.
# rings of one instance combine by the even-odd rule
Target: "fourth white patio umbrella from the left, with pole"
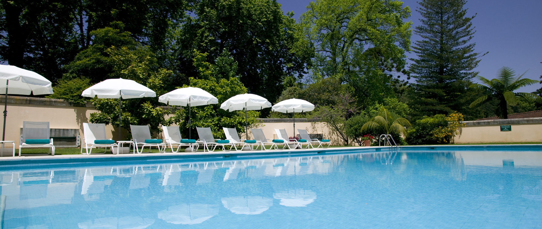
[[220,108],[233,112],[234,110],[244,109],[244,127],[245,134],[248,136],[247,110],[261,110],[271,107],[271,103],[266,98],[254,94],[236,95],[224,101]]

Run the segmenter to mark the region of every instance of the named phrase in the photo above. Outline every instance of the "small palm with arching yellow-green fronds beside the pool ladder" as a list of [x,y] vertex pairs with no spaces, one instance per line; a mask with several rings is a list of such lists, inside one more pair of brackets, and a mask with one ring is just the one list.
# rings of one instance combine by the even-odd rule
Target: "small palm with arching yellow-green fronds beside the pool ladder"
[[373,117],[371,121],[366,122],[361,129],[361,132],[376,130],[380,134],[403,134],[407,135],[404,127],[411,127],[412,125],[404,117],[395,117],[386,110],[385,107],[380,107],[378,115]]

